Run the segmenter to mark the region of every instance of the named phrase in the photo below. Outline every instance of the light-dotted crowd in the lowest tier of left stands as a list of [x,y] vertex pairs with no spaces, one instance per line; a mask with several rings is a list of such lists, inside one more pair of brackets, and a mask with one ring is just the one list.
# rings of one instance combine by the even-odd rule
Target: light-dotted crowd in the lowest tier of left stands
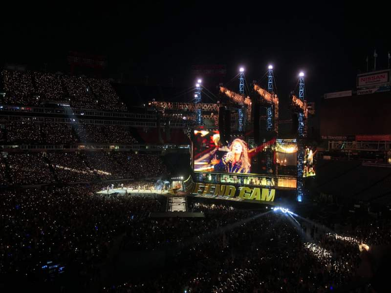
[[2,185],[137,179],[168,173],[160,156],[132,152],[23,152],[8,153],[1,160]]

